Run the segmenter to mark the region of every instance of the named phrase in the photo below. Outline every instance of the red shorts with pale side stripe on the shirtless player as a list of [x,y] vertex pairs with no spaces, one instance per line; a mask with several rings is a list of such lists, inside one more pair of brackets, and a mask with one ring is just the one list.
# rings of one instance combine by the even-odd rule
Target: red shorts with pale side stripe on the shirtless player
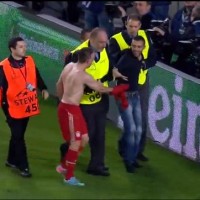
[[58,121],[65,141],[81,140],[88,134],[87,125],[79,106],[60,102]]

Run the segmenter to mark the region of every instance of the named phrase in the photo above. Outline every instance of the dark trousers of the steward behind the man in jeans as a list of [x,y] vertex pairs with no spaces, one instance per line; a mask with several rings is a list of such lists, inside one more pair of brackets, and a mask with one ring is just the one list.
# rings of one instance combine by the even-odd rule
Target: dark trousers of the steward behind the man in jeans
[[146,137],[147,137],[147,115],[148,115],[148,104],[149,104],[149,77],[147,74],[147,80],[144,85],[139,87],[139,95],[141,102],[141,110],[142,110],[142,136],[140,140],[140,147],[138,155],[143,154],[145,145],[146,145]]

